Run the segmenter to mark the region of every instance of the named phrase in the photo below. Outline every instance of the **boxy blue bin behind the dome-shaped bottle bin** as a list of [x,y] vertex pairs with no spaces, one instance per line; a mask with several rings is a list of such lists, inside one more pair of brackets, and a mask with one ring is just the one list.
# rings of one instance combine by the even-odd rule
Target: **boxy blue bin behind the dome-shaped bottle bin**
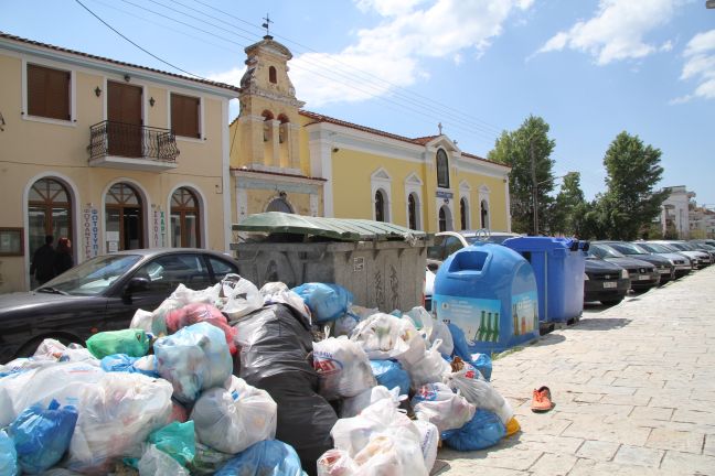
[[540,322],[566,322],[584,312],[585,244],[553,237],[504,240],[503,246],[521,253],[534,269]]

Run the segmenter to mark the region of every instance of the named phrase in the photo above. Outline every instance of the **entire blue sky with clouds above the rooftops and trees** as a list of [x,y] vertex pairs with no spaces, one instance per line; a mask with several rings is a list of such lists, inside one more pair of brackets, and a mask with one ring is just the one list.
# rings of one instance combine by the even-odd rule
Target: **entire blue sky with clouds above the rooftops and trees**
[[[153,55],[237,84],[244,47],[271,34],[312,111],[485,156],[543,117],[555,174],[605,190],[626,130],[661,149],[661,185],[715,205],[715,10],[705,0],[81,0]],[[0,0],[0,30],[163,71],[76,0]]]

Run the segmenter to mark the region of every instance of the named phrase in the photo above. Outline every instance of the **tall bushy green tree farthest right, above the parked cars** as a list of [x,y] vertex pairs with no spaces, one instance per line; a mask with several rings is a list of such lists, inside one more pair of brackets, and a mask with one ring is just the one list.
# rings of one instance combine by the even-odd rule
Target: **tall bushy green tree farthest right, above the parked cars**
[[626,131],[611,142],[604,158],[607,191],[597,206],[600,238],[636,239],[658,216],[669,194],[653,191],[663,175],[661,155],[660,149]]

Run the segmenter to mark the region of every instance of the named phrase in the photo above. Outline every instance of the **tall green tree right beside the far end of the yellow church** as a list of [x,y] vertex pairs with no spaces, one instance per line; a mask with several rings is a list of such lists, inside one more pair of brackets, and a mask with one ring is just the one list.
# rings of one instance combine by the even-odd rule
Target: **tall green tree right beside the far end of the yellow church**
[[509,194],[512,229],[516,232],[538,234],[538,230],[534,229],[533,218],[534,186],[540,224],[545,224],[545,216],[553,201],[549,193],[554,190],[554,161],[549,156],[555,141],[548,138],[548,129],[544,119],[530,116],[515,131],[503,131],[488,155],[490,160],[512,167],[509,175]]

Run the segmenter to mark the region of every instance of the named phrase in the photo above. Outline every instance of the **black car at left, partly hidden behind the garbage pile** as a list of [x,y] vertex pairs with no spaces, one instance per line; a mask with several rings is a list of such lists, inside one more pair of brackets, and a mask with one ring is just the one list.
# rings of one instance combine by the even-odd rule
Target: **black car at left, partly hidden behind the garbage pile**
[[0,295],[0,363],[31,355],[42,339],[84,343],[127,328],[137,309],[153,311],[179,284],[209,288],[237,273],[228,256],[189,248],[99,256],[31,292]]

